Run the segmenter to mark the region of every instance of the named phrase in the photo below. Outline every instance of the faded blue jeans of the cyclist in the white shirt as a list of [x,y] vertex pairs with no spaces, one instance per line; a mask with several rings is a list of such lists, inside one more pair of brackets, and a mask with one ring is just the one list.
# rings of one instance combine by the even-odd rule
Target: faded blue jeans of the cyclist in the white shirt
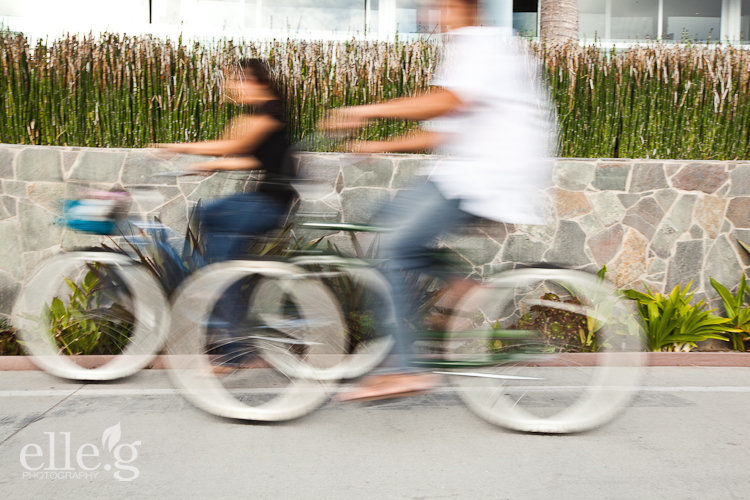
[[416,316],[416,274],[434,263],[431,248],[438,236],[450,232],[473,217],[459,208],[460,200],[446,199],[432,182],[399,193],[376,218],[377,225],[391,229],[380,240],[381,258],[387,259],[383,274],[391,285],[396,323],[395,371],[415,371],[412,363],[413,329],[408,319]]

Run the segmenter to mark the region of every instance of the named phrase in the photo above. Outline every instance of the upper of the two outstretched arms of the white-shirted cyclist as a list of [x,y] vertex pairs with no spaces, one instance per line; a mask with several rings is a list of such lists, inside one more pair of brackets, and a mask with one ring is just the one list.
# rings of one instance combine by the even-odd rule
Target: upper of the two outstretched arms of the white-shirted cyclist
[[422,121],[450,114],[463,106],[461,99],[450,90],[436,88],[426,94],[402,97],[378,104],[366,104],[333,110],[323,128],[329,130],[354,129],[370,120],[396,118]]

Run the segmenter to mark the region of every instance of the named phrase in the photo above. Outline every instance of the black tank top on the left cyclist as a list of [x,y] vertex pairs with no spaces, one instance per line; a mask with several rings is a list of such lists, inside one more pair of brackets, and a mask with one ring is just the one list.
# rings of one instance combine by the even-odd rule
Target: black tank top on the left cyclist
[[[246,113],[253,110],[245,108]],[[263,177],[258,184],[258,192],[265,193],[284,205],[290,205],[297,198],[297,192],[291,185],[296,177],[291,158],[289,129],[284,116],[284,106],[278,100],[266,101],[255,108],[255,115],[270,116],[283,126],[269,135],[255,151],[248,152],[258,159]]]

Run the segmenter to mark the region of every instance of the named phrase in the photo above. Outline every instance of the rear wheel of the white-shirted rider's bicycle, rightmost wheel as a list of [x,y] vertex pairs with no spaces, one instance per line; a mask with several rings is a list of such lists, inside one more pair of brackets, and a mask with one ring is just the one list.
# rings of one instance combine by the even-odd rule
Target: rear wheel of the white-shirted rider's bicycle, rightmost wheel
[[645,353],[640,323],[613,287],[566,269],[501,273],[451,318],[449,374],[479,416],[524,432],[597,427],[624,407]]

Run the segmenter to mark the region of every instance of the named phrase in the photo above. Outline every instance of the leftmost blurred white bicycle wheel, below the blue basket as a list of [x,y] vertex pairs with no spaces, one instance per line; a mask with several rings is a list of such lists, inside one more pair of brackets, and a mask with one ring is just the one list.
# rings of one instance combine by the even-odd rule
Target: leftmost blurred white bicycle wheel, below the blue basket
[[[145,367],[169,332],[169,306],[141,265],[112,252],[65,253],[45,262],[13,309],[24,349],[47,372],[114,380]],[[116,356],[86,356],[86,355]]]

